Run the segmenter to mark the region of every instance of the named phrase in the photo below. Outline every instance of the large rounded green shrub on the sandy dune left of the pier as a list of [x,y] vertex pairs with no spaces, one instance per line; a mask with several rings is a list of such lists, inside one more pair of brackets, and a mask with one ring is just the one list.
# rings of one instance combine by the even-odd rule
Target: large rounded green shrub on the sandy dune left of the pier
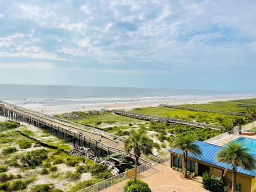
[[47,158],[47,151],[45,149],[38,149],[28,151],[26,155],[21,156],[21,163],[30,167],[41,165],[43,160]]

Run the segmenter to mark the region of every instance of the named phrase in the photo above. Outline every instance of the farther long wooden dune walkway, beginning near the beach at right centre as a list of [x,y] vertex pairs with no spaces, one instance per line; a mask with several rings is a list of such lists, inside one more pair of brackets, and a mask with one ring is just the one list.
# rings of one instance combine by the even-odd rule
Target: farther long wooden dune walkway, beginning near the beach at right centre
[[193,107],[172,106],[172,105],[167,105],[167,104],[160,104],[159,106],[169,107],[169,108],[173,108],[173,109],[183,109],[183,110],[191,110],[191,111],[203,111],[203,112],[209,112],[209,113],[220,113],[220,114],[227,114],[227,115],[247,116],[244,113],[236,113],[236,112],[229,112],[229,111],[219,111],[219,110],[201,109],[201,108],[193,108]]

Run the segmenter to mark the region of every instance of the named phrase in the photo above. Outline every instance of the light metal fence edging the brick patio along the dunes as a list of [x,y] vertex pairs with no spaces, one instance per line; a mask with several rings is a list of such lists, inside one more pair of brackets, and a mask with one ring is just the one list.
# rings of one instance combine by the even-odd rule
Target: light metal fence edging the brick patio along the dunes
[[[151,164],[150,163],[146,163],[143,165],[140,165],[137,167],[137,173],[142,173],[145,171],[148,171],[151,168]],[[134,175],[134,168],[128,171],[125,171],[121,174],[118,174],[114,177],[111,177],[109,179],[106,179],[104,181],[98,182],[92,186],[86,187],[84,189],[78,190],[77,192],[98,192],[101,191],[103,189],[106,189],[108,187],[111,187],[119,182],[122,182],[126,179],[129,179],[130,177],[132,177]]]

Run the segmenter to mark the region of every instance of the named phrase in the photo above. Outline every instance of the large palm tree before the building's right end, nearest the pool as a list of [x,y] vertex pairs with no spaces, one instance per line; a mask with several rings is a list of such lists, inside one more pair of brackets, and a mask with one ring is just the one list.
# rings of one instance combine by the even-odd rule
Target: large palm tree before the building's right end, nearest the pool
[[217,161],[220,163],[232,164],[232,189],[235,192],[236,188],[236,172],[237,167],[241,166],[245,170],[255,169],[255,159],[251,154],[247,153],[247,148],[240,145],[239,142],[230,142],[226,147],[221,148],[217,154]]

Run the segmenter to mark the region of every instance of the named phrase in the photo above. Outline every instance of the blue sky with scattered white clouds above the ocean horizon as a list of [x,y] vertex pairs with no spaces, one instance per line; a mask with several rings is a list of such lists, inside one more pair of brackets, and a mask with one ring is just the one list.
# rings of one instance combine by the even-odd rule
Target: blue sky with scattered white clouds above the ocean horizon
[[256,1],[0,0],[0,84],[256,90]]

